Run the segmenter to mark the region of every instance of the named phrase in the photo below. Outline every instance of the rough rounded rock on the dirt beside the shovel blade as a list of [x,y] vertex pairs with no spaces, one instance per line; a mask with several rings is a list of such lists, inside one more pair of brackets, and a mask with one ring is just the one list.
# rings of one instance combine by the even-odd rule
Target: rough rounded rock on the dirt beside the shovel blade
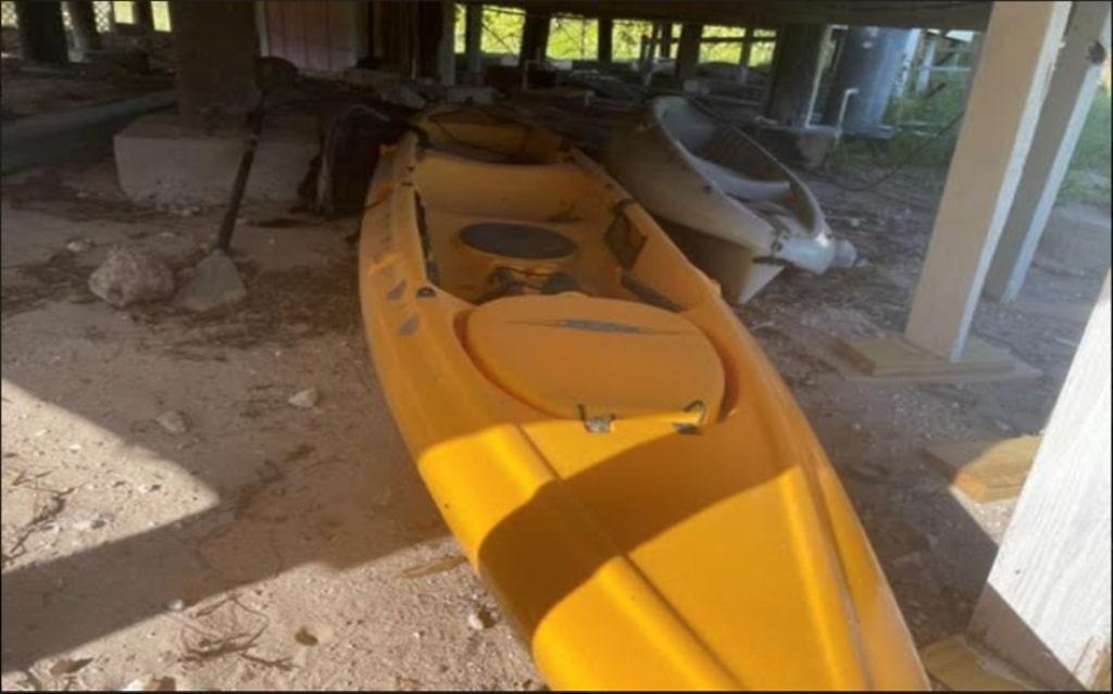
[[158,301],[174,294],[174,274],[151,252],[131,245],[115,246],[89,276],[89,290],[117,308]]

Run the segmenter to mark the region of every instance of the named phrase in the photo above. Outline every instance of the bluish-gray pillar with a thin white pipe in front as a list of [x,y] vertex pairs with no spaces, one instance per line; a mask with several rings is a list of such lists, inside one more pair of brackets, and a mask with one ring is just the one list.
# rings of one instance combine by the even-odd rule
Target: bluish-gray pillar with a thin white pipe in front
[[880,27],[847,29],[831,78],[824,122],[837,123],[843,110],[843,95],[847,89],[857,89],[847,101],[843,129],[868,132],[880,126],[885,107],[897,83],[908,33],[907,29]]

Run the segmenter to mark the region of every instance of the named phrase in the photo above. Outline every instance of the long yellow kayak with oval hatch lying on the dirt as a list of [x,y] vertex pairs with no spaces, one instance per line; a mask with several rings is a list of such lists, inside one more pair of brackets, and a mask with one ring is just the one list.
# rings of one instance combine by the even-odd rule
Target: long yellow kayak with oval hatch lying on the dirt
[[580,151],[437,107],[386,148],[359,294],[441,514],[552,688],[926,688],[754,338]]

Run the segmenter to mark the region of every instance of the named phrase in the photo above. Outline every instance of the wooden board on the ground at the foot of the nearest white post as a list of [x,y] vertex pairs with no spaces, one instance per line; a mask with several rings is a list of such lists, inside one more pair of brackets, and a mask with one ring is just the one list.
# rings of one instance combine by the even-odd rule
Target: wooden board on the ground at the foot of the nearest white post
[[956,692],[1018,692],[1043,688],[962,635],[947,636],[920,648],[919,657],[928,675]]

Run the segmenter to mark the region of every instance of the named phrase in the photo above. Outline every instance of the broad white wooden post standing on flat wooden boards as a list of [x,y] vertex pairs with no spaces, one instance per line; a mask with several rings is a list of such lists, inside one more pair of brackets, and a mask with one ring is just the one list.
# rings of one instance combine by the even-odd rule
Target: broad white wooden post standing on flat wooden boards
[[905,339],[957,361],[1032,145],[1070,2],[995,2]]

